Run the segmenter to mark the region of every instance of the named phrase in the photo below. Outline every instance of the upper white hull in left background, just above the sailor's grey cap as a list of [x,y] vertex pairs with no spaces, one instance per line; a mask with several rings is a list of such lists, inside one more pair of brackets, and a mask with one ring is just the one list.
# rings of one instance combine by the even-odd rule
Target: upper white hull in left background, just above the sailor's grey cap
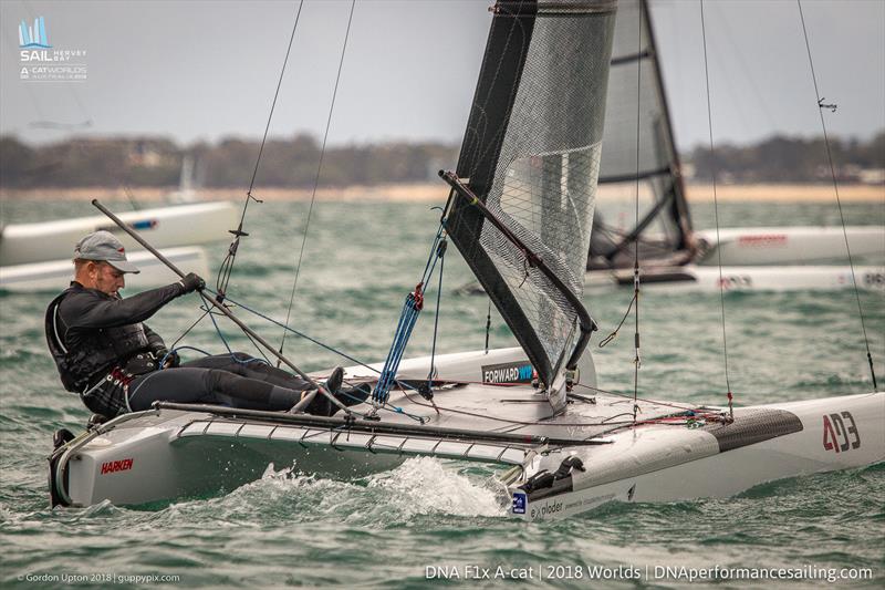
[[[230,238],[237,227],[237,209],[231,203],[200,203],[122,213],[155,248],[191,246]],[[60,219],[39,224],[11,224],[0,234],[0,266],[10,267],[71,258],[83,236],[105,229],[113,232],[127,255],[142,247],[103,215]]]

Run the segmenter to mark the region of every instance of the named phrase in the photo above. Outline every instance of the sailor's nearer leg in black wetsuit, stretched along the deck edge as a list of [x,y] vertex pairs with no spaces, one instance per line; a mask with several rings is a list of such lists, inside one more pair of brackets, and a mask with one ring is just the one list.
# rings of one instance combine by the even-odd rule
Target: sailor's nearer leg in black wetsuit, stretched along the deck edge
[[219,369],[178,368],[155,371],[129,384],[129,407],[148,410],[156,401],[221,404],[244,410],[285,411],[302,392]]

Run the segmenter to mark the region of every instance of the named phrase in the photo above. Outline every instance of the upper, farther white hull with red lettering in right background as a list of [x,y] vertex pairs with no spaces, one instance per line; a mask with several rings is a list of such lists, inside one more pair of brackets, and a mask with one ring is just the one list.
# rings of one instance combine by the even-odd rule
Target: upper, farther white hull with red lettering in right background
[[[845,228],[855,259],[885,258],[885,227]],[[809,265],[847,260],[845,235],[841,227],[738,227],[695,231],[707,249],[696,262],[700,266]],[[718,244],[718,247],[717,247]]]

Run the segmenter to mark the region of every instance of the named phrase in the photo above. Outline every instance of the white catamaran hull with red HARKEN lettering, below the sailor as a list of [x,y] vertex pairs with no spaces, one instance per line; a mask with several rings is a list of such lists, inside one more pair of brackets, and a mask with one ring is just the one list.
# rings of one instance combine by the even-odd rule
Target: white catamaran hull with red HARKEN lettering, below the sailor
[[51,460],[55,501],[144,505],[201,497],[254,482],[269,465],[353,479],[392,469],[413,456],[501,465],[521,465],[527,457],[520,445],[332,431],[200,412],[159,410],[123,418],[80,441],[82,445],[75,439],[71,453]]

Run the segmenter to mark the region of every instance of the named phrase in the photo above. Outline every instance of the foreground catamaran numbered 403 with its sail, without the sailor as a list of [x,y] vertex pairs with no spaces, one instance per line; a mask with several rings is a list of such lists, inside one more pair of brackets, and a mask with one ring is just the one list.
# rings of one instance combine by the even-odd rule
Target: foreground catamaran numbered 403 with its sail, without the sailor
[[[508,514],[537,520],[612,500],[729,496],[885,459],[885,392],[875,384],[752,407],[732,407],[730,393],[699,405],[596,387],[586,349],[595,322],[582,297],[615,2],[501,0],[492,13],[457,168],[441,173],[451,192],[421,280],[386,360],[346,369],[348,382],[372,385],[371,400],[333,417],[158,402],[77,436],[60,431],[53,505],[199,497],[258,479],[269,464],[351,478],[430,456],[501,467]],[[404,360],[449,241],[519,346]]]

